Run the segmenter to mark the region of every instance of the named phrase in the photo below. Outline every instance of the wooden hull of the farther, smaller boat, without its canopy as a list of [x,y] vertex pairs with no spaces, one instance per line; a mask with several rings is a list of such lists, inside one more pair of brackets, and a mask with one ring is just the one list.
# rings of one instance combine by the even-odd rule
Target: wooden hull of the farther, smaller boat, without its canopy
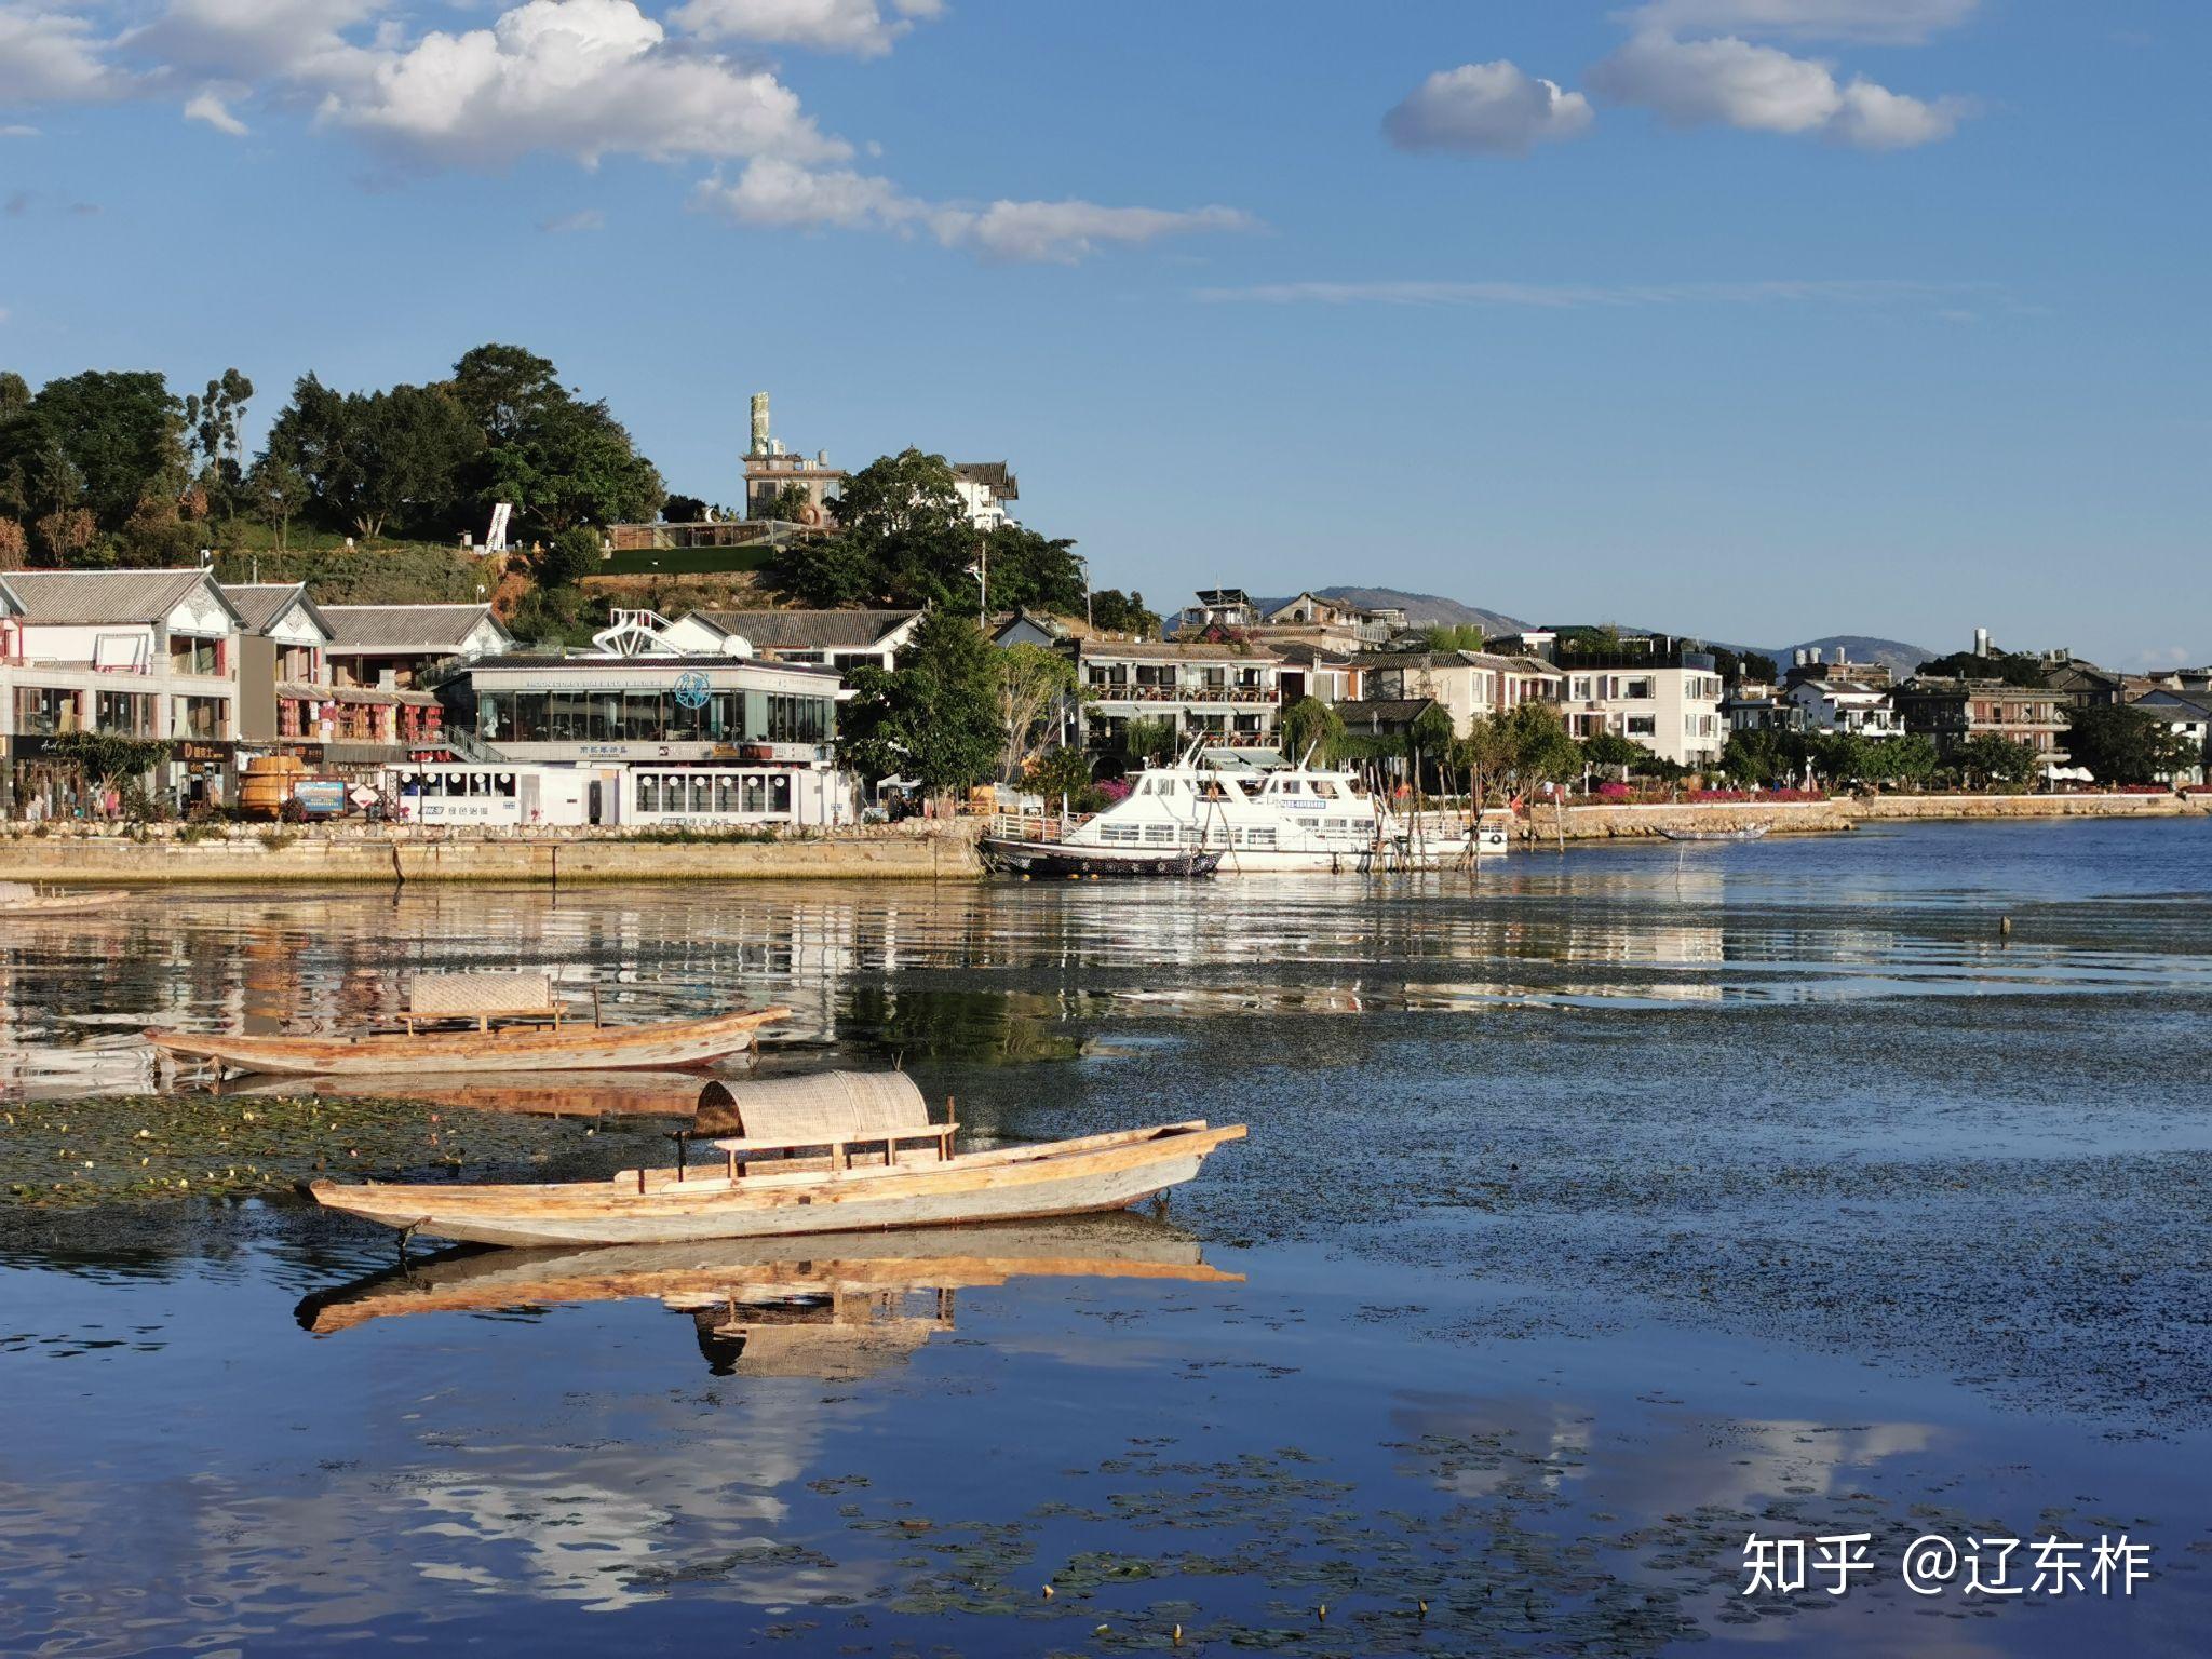
[[495,1026],[491,1031],[385,1031],[363,1037],[230,1037],[148,1031],[146,1042],[175,1060],[212,1062],[234,1073],[285,1077],[400,1077],[407,1073],[487,1071],[681,1071],[741,1055],[761,1026],[790,1009],[721,1013],[712,1020],[661,1020],[637,1026]]

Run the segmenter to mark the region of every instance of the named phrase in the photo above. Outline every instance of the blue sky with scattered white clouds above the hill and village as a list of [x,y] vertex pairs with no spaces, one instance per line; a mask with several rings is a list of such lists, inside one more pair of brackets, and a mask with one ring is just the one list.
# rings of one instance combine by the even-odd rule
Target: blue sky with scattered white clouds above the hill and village
[[0,365],[500,338],[1102,586],[2212,659],[2197,0],[0,0]]

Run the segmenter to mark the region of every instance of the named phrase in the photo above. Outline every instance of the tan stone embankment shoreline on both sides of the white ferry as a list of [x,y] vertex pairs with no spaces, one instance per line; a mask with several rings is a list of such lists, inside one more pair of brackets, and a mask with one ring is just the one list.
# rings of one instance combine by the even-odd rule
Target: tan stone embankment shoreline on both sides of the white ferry
[[[1562,823],[1564,818],[1564,823]],[[1882,794],[1829,801],[1535,805],[1513,827],[1522,847],[1655,841],[1666,830],[1849,834],[1863,823],[2020,823],[2059,818],[2212,818],[2212,796],[2174,794]],[[0,825],[0,880],[69,887],[659,883],[659,880],[978,880],[975,821],[909,823],[772,841],[655,841],[591,830],[467,832],[411,825],[223,827]]]

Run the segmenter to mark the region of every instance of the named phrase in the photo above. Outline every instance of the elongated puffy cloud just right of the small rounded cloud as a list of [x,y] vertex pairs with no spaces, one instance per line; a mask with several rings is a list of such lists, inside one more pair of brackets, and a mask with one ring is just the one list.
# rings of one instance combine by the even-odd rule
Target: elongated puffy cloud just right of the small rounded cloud
[[1949,137],[1964,113],[1960,100],[1929,104],[1869,80],[1838,86],[1829,64],[1736,35],[1635,35],[1590,71],[1590,91],[1615,104],[1641,104],[1674,126],[1823,133],[1869,150]]

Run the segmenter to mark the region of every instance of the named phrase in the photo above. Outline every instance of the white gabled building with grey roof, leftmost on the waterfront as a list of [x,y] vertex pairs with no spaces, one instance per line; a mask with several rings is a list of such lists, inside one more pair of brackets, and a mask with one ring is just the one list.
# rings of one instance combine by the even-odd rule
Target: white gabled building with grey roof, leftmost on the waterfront
[[168,743],[144,783],[177,807],[232,799],[239,624],[208,571],[0,575],[0,807],[95,807],[53,757],[73,732]]

